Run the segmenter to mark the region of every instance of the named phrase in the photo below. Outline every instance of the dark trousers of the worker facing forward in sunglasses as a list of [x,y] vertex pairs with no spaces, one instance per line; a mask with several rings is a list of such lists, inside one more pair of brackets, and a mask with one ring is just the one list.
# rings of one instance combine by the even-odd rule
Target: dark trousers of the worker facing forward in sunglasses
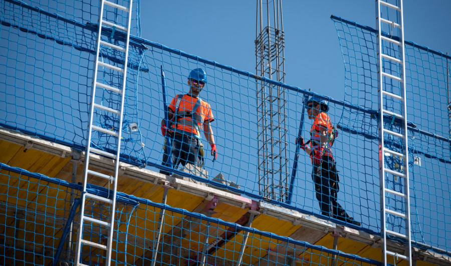
[[[183,166],[186,163],[191,163],[193,165],[200,164],[201,160],[199,158],[199,139],[190,135],[173,134],[172,148],[171,148],[171,158],[172,165],[174,169],[177,168],[178,164],[181,163]],[[162,165],[171,167],[169,163],[169,153],[166,144],[163,147],[163,161]],[[169,172],[160,170],[160,173],[169,174]]]

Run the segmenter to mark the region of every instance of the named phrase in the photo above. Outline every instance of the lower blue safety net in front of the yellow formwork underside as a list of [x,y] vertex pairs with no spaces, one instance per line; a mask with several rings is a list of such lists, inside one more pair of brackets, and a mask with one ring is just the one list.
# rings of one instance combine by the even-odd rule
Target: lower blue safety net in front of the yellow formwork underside
[[[83,187],[4,163],[0,163],[0,171],[0,240],[3,246],[0,263],[73,263],[79,216],[77,200]],[[94,185],[88,190],[98,195],[111,193]],[[111,262],[116,265],[149,265],[153,260],[158,265],[196,265],[201,261],[206,265],[236,265],[238,262],[243,265],[330,265],[334,261],[346,265],[380,265],[372,259],[148,199],[121,192],[117,196],[111,256]],[[102,219],[107,212],[98,202],[86,202],[85,214],[89,216]],[[160,222],[162,230],[158,234]],[[83,234],[84,239],[105,244],[105,228],[92,226]],[[245,237],[248,237],[246,242]],[[82,250],[82,263],[105,264],[105,250],[88,247]]]

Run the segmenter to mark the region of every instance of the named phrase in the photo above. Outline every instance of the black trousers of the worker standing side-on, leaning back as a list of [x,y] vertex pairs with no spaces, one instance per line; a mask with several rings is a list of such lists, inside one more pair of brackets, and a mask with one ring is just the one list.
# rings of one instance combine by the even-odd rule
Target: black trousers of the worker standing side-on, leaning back
[[329,155],[323,155],[321,165],[313,165],[312,178],[315,182],[316,198],[319,201],[321,213],[339,220],[352,221],[337,202],[339,178],[334,159]]

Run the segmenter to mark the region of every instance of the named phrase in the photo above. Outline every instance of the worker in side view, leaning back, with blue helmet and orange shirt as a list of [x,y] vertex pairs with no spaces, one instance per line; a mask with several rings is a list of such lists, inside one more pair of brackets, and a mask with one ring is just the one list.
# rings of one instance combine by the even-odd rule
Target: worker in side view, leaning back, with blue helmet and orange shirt
[[[312,178],[322,214],[360,226],[360,222],[350,217],[337,202],[339,178],[331,150],[337,133],[327,115],[328,104],[327,100],[318,97],[307,100],[308,117],[314,120],[310,130],[311,138],[305,143],[304,138],[299,136],[296,141],[312,159]],[[309,142],[310,147],[307,146]]]

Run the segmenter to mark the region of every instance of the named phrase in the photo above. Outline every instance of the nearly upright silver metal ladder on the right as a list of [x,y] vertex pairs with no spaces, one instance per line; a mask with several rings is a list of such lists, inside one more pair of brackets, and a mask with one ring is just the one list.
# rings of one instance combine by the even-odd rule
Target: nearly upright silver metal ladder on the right
[[[384,265],[387,265],[388,256],[393,256],[395,260],[405,259],[408,265],[412,265],[411,254],[411,235],[410,235],[410,200],[409,200],[409,167],[408,167],[408,146],[407,146],[407,109],[406,109],[406,92],[405,92],[405,59],[404,59],[404,29],[403,29],[403,9],[402,0],[397,0],[398,5],[388,3],[386,1],[376,0],[376,27],[377,27],[377,74],[378,74],[378,94],[379,94],[379,176],[380,176],[380,204],[381,204],[381,237],[383,237],[383,253],[382,261]],[[390,21],[387,18],[381,17],[381,8],[386,8],[387,14],[396,14],[398,22]],[[383,28],[392,29],[390,35],[382,35]],[[399,33],[398,39],[393,36],[394,28]],[[390,56],[383,53],[382,47],[392,45],[399,48],[399,58]],[[398,75],[393,73],[384,72],[383,62],[392,63],[399,69]],[[399,82],[400,95],[386,91],[386,83]],[[386,81],[386,82],[385,82]],[[390,104],[384,102],[384,98],[390,99],[389,102],[396,103],[397,106],[401,106],[402,113],[396,113],[395,109],[388,110]],[[391,105],[393,107],[393,105]],[[399,111],[398,111],[399,112]],[[402,128],[401,133],[394,132],[384,128],[384,116],[392,118],[392,121],[398,121]],[[403,152],[397,152],[387,148],[384,144],[384,135],[389,135],[394,139],[402,141]],[[396,170],[388,169],[385,165],[385,153],[390,156],[397,156],[403,161],[403,167]],[[399,171],[398,171],[399,170]],[[401,192],[386,188],[386,176],[399,176],[403,178],[404,184]],[[404,192],[402,192],[402,190]],[[396,211],[387,207],[386,199],[393,197],[399,200],[403,200],[405,213]],[[394,215],[401,217],[405,222],[405,232],[396,232],[387,229],[387,215]],[[406,253],[399,254],[394,250],[388,250],[387,238],[399,237],[406,241]]]

